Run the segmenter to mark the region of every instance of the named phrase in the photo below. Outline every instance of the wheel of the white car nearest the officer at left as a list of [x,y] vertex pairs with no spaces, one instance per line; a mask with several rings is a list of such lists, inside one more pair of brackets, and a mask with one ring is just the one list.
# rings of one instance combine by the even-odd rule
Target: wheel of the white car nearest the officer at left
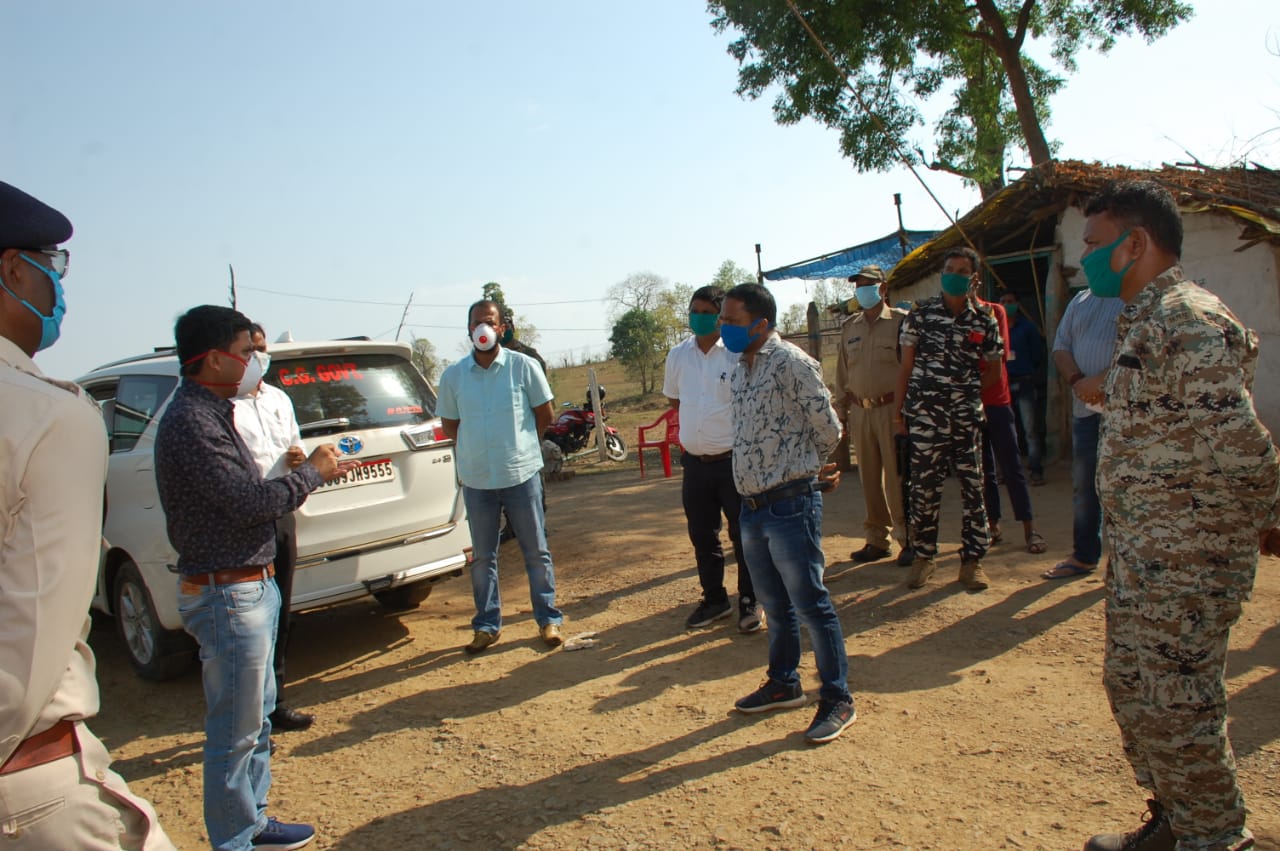
[[165,630],[156,617],[151,594],[133,562],[124,562],[111,594],[115,633],[129,663],[143,680],[173,680],[191,668],[196,642],[180,630]]

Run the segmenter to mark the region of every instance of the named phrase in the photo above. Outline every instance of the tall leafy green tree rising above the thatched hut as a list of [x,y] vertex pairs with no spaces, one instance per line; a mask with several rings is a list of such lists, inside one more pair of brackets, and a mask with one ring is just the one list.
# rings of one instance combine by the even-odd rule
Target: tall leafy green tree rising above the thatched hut
[[[797,3],[841,68],[787,3],[709,0],[712,27],[739,33],[728,46],[739,63],[737,93],[754,100],[781,86],[774,120],[812,118],[840,131],[841,151],[860,171],[887,170],[905,156],[960,175],[984,197],[1002,186],[1010,146],[1025,150],[1033,165],[1052,159],[1043,125],[1064,79],[1023,52],[1028,36],[1048,38],[1053,60],[1071,73],[1085,49],[1107,52],[1132,33],[1149,42],[1192,14],[1178,0]],[[945,90],[952,102],[934,128],[929,161],[914,143],[924,124],[914,104]]]

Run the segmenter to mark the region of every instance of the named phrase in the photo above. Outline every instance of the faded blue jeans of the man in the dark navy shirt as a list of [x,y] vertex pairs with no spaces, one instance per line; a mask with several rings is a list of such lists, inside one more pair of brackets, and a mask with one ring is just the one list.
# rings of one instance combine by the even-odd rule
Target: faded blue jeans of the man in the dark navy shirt
[[200,642],[205,685],[205,828],[218,851],[243,851],[266,827],[275,709],[275,580],[178,585],[182,624]]

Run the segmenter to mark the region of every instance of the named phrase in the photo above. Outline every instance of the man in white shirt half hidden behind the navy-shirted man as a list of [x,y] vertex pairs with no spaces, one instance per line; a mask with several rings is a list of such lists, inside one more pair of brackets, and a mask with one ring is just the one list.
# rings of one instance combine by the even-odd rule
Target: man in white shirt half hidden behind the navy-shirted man
[[[266,353],[266,331],[253,324],[250,329],[253,349]],[[270,358],[268,358],[270,363]],[[266,369],[262,369],[264,375]],[[253,453],[262,479],[278,479],[307,459],[302,448],[293,402],[278,386],[260,381],[252,392],[238,395],[236,430]],[[275,584],[280,589],[280,621],[275,631],[275,694],[284,695],[284,654],[289,646],[289,604],[293,599],[293,566],[298,561],[298,523],[293,513],[275,521]],[[271,729],[306,729],[316,717],[293,709],[282,696],[275,700]],[[273,744],[274,747],[274,744]]]

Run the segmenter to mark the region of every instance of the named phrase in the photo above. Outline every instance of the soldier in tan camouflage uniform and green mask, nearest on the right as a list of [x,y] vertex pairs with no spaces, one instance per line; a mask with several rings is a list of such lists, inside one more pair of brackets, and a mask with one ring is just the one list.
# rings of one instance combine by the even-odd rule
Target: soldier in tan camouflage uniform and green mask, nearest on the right
[[1103,685],[1152,800],[1143,827],[1084,847],[1248,848],[1224,671],[1280,520],[1276,450],[1251,394],[1257,337],[1183,278],[1181,219],[1165,189],[1112,184],[1085,216],[1089,289],[1125,302],[1098,445],[1111,552]]

